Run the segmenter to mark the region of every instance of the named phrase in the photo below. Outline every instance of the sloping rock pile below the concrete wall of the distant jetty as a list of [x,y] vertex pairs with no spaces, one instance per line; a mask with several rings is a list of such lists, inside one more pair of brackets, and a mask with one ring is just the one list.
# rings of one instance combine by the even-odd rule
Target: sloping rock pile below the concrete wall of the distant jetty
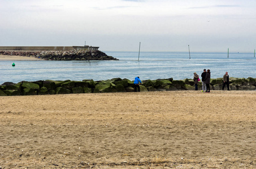
[[36,57],[44,60],[118,60],[102,51],[0,51],[0,55]]

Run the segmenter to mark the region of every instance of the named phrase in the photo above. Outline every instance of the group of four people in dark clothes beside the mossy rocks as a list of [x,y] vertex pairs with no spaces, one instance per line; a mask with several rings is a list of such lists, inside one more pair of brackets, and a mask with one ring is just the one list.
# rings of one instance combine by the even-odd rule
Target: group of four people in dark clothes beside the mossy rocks
[[[203,73],[201,74],[202,77],[202,92],[210,93],[210,79],[211,79],[211,72],[210,69],[206,71],[206,69],[203,69]],[[195,90],[198,90],[198,82],[200,81],[197,73],[194,73],[194,86]],[[229,90],[229,75],[228,72],[226,72],[223,75],[223,85],[222,90],[224,90],[225,86],[227,85],[227,88]]]

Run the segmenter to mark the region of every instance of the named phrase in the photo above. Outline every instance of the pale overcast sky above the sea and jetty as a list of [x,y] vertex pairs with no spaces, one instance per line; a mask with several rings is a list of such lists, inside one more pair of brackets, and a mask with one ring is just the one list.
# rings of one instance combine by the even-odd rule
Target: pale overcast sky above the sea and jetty
[[0,0],[0,46],[254,52],[254,0]]

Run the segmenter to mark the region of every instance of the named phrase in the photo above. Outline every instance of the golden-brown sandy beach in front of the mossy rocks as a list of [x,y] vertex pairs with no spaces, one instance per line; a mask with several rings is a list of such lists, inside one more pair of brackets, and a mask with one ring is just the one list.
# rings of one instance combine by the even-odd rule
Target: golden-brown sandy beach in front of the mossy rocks
[[256,168],[256,92],[0,97],[2,168]]

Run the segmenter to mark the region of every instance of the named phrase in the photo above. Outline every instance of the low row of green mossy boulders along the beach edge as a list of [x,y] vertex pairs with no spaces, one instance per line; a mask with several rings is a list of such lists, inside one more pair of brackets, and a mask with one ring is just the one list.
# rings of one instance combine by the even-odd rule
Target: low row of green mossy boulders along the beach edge
[[[223,79],[211,79],[211,90],[222,90]],[[256,78],[230,78],[231,90],[255,90]],[[202,82],[198,83],[198,88],[202,87]],[[147,91],[177,91],[194,90],[192,79],[173,80],[157,79],[145,80],[140,85],[141,92]],[[227,90],[225,88],[225,90]],[[106,81],[93,81],[84,79],[83,81],[36,81],[19,83],[5,82],[0,85],[0,96],[19,95],[55,95],[55,94],[82,94],[82,93],[105,93],[105,92],[133,92],[133,81],[129,79],[113,78]]]

